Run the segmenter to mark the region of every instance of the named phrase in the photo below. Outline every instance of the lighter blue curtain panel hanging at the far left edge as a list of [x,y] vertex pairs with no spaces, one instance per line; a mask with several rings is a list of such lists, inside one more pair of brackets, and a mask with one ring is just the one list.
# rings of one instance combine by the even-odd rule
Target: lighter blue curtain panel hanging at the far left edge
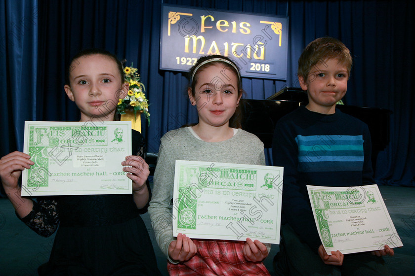
[[36,0],[0,1],[1,156],[23,148],[25,120],[37,120]]

